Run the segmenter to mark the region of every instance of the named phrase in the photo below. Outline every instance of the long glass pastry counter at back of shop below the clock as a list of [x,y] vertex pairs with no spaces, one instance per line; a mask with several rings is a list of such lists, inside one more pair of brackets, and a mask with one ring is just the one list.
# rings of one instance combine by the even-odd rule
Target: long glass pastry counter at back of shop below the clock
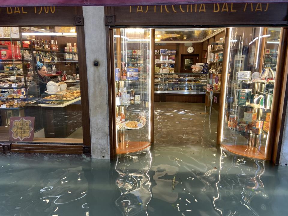
[[205,94],[207,73],[155,73],[155,93]]

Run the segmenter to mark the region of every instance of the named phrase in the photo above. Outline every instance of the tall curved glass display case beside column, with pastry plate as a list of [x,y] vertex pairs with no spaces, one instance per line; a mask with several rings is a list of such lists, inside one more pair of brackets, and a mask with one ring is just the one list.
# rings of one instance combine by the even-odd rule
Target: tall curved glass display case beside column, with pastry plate
[[114,29],[113,36],[116,153],[121,154],[151,142],[150,29]]

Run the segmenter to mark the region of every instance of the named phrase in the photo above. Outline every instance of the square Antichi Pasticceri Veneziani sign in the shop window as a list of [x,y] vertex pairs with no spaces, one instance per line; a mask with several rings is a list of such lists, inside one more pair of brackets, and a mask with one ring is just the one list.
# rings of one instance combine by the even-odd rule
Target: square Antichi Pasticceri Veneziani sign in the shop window
[[35,117],[11,117],[10,141],[33,141]]

